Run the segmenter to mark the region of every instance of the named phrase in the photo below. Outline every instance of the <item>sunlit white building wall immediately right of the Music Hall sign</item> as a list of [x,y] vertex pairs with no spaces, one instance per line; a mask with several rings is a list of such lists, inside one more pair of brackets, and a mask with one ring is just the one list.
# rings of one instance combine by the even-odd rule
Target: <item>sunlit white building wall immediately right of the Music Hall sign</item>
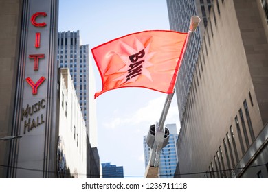
[[87,128],[67,68],[60,69],[59,97],[58,177],[87,178]]

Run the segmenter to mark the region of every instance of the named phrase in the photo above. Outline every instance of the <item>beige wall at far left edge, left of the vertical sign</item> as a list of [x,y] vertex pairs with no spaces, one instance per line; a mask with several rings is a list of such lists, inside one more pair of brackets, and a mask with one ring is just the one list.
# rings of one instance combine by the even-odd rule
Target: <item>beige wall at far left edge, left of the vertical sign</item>
[[[12,134],[21,32],[20,0],[0,0],[0,138]],[[10,141],[0,141],[0,178],[6,177]]]

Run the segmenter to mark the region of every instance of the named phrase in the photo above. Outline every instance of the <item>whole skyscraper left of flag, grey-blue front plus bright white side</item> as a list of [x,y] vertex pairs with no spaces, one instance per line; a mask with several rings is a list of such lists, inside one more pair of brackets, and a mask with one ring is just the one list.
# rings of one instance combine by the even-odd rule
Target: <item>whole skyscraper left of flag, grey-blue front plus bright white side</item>
[[89,140],[92,147],[96,147],[98,145],[96,109],[93,100],[95,82],[89,58],[89,45],[81,45],[79,31],[58,33],[58,64],[61,68],[69,68],[87,126]]

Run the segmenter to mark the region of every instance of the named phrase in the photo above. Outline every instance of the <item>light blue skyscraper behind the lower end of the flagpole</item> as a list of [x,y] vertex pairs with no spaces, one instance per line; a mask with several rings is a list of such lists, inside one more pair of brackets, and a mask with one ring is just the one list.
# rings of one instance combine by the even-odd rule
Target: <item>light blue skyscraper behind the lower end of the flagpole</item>
[[[178,139],[176,124],[167,124],[166,127],[170,130],[170,137],[168,145],[161,150],[160,164],[159,164],[159,178],[173,178],[178,158],[176,142]],[[147,167],[150,161],[150,147],[146,143],[146,136],[144,136],[144,163]]]

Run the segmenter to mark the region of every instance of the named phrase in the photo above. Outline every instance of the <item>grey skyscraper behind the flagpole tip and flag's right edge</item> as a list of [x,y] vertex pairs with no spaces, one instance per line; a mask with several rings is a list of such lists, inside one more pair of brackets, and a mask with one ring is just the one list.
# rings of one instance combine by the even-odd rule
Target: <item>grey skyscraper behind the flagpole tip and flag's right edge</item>
[[[188,32],[190,26],[190,18],[201,15],[201,6],[196,0],[167,0],[168,17],[170,22],[170,29],[177,32]],[[208,11],[208,6],[204,4],[203,8]],[[206,19],[206,15],[204,16]],[[177,76],[175,84],[177,104],[179,108],[179,118],[182,119],[186,108],[187,96],[190,90],[190,83],[192,82],[192,73],[194,72],[195,64],[197,63],[197,56],[201,47],[201,36],[205,29],[205,20],[201,20],[196,32],[192,33],[188,47],[183,56],[181,67]]]

